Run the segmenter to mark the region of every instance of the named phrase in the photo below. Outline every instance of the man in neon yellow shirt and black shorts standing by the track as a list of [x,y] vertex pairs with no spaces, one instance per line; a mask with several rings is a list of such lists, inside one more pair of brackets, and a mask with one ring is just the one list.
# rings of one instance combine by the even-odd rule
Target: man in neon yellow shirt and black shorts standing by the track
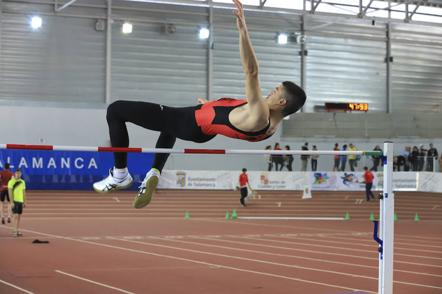
[[12,226],[14,228],[12,237],[23,236],[18,231],[23,208],[26,208],[26,183],[21,179],[21,176],[22,170],[15,169],[14,177],[8,182],[9,198],[12,202]]

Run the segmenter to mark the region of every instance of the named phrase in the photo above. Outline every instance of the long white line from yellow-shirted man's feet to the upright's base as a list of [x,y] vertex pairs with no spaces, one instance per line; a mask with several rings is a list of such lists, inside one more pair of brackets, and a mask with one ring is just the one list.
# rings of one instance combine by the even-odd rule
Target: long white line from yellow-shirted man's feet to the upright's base
[[[208,265],[208,266],[212,266],[212,267],[220,267],[220,268],[229,269],[229,270],[238,270],[238,271],[245,271],[245,272],[250,272],[250,273],[257,273],[257,274],[262,274],[262,275],[266,275],[266,276],[272,276],[272,277],[283,278],[283,279],[288,279],[288,280],[293,280],[293,281],[299,281],[299,282],[305,282],[305,283],[311,283],[311,284],[316,284],[316,285],[322,285],[322,286],[327,286],[327,287],[334,287],[334,288],[354,291],[354,288],[347,288],[347,287],[330,285],[330,284],[321,283],[321,282],[303,280],[303,279],[298,279],[298,278],[293,278],[293,277],[288,277],[288,276],[283,276],[283,275],[272,274],[272,273],[268,273],[268,272],[255,271],[255,270],[245,270],[245,269],[240,269],[240,268],[232,268],[232,267],[222,266],[222,265],[208,263],[208,262],[204,262],[204,261],[198,261],[198,260],[187,259],[187,258],[182,258],[182,257],[176,257],[176,256],[170,256],[170,255],[164,255],[164,254],[158,254],[158,253],[152,253],[152,252],[146,252],[146,251],[140,251],[140,250],[136,250],[136,249],[130,249],[130,248],[119,247],[119,246],[114,246],[114,245],[95,243],[95,242],[90,242],[90,241],[85,241],[85,240],[72,239],[72,238],[68,238],[68,237],[57,236],[57,235],[47,234],[47,233],[42,233],[42,232],[35,232],[35,231],[31,231],[31,230],[24,230],[24,229],[22,229],[22,231],[30,232],[30,233],[36,233],[36,234],[42,234],[42,235],[46,235],[46,236],[52,236],[52,237],[57,237],[57,238],[62,238],[62,239],[66,239],[66,240],[87,243],[87,244],[100,245],[100,246],[109,247],[109,248],[121,249],[121,250],[125,250],[125,251],[137,252],[137,253],[142,253],[142,254],[149,254],[149,255],[154,255],[154,256],[159,256],[159,257],[167,257],[167,258],[171,258],[171,259],[188,261],[188,262]],[[378,292],[371,292],[371,291],[367,291],[367,290],[359,290],[359,291],[366,292],[366,293],[372,293],[372,294],[378,294]]]

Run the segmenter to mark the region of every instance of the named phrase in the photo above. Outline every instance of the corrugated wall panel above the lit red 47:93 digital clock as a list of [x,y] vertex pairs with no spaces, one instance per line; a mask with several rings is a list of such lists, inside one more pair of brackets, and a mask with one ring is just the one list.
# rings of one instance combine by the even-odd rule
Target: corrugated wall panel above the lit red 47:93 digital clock
[[[385,28],[365,21],[307,20],[306,111],[324,102],[368,102],[386,112]],[[320,28],[309,30],[318,25]]]

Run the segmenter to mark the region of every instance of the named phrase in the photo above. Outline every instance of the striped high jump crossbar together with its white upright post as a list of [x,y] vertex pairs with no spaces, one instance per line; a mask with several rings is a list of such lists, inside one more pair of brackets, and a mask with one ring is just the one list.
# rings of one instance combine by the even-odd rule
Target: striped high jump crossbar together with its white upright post
[[[382,156],[384,161],[384,189],[379,196],[379,288],[378,294],[393,293],[393,235],[394,235],[394,194],[393,143],[384,143],[382,151],[335,151],[335,150],[240,150],[240,149],[169,149],[169,148],[123,148],[123,147],[84,147],[0,144],[0,149],[54,150],[54,151],[91,151],[91,152],[136,152],[136,153],[192,153],[192,154],[292,154],[292,155],[373,155]],[[376,221],[375,221],[376,223]],[[377,225],[375,225],[377,227]]]

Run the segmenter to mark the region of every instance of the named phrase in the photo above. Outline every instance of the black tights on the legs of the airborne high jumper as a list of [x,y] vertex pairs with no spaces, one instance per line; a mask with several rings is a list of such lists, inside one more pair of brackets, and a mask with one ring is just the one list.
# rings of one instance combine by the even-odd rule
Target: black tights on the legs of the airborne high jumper
[[[115,101],[108,107],[106,119],[109,125],[112,147],[129,147],[126,123],[135,123],[143,128],[159,131],[157,148],[172,148],[176,138],[204,143],[214,138],[201,132],[195,121],[195,110],[191,107],[167,107],[149,102]],[[152,168],[163,170],[170,153],[155,153]],[[127,167],[127,153],[114,152],[115,168]]]

